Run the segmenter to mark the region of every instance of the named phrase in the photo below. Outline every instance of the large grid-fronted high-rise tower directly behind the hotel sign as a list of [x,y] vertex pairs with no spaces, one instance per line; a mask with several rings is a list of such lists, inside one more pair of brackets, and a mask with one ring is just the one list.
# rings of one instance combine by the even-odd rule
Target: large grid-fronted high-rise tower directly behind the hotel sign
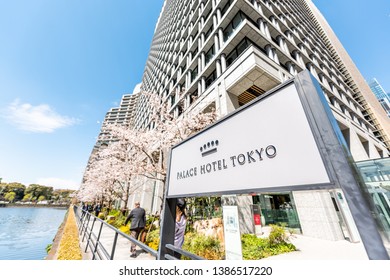
[[[224,116],[306,69],[319,81],[354,160],[388,157],[390,122],[311,0],[166,0],[141,88],[163,97],[178,118],[210,109]],[[147,112],[140,95],[135,127],[152,126]],[[260,204],[266,224],[359,239],[340,189],[251,194],[243,201]]]

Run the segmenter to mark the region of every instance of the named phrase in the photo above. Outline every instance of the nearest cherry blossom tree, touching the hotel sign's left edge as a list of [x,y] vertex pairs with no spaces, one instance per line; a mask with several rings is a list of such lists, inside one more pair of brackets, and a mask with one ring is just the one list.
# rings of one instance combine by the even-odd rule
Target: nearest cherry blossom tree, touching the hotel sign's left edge
[[131,147],[132,174],[160,181],[165,186],[169,149],[212,124],[217,115],[214,111],[190,111],[175,117],[167,102],[157,94],[144,93],[144,97],[149,104],[147,128],[108,125],[106,129],[113,138],[125,141]]

